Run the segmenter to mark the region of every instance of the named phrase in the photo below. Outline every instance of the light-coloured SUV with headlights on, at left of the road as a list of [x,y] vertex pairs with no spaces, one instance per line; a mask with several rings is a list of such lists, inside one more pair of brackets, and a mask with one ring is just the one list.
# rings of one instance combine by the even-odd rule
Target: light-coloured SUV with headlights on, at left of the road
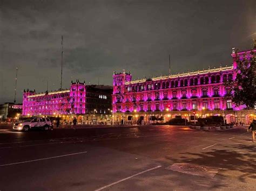
[[23,122],[15,123],[12,129],[17,131],[29,131],[31,129],[49,130],[50,128],[53,128],[50,118],[32,117]]

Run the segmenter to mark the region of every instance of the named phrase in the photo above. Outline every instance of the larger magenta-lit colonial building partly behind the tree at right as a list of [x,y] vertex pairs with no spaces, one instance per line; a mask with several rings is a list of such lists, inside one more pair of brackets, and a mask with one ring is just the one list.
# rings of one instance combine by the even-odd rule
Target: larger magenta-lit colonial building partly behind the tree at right
[[[232,50],[233,65],[208,68],[175,75],[152,77],[132,81],[131,73],[113,73],[112,108],[114,120],[150,123],[151,116],[168,121],[176,116],[190,120],[209,115],[223,116],[227,123],[250,123],[256,117],[255,110],[245,105],[236,107],[231,100],[226,81],[235,79],[237,56],[240,59],[255,54],[256,49],[245,52]],[[191,117],[193,116],[193,117]]]

